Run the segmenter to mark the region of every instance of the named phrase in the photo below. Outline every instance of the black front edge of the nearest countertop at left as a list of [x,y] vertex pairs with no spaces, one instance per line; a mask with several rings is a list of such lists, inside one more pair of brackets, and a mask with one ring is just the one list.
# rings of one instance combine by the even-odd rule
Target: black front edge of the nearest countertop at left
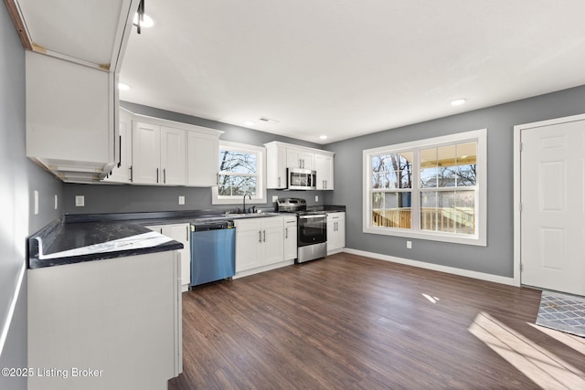
[[65,266],[68,264],[83,263],[86,261],[105,260],[108,258],[126,258],[129,256],[146,255],[168,250],[182,249],[183,244],[177,241],[168,241],[165,244],[150,248],[140,248],[131,250],[119,250],[115,252],[93,253],[88,255],[73,256],[68,258],[28,258],[28,269],[43,269],[47,267]]

